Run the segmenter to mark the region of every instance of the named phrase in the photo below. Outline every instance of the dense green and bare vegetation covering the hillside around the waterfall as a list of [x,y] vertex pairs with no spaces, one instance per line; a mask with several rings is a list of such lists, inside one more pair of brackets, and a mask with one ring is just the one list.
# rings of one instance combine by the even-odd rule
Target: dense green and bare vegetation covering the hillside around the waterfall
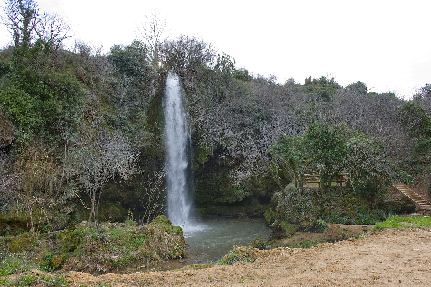
[[[66,225],[123,220],[127,209],[147,223],[162,210],[164,70],[178,73],[187,93],[197,207],[269,203],[276,192],[280,202],[329,199],[340,173],[365,204],[396,181],[429,183],[430,84],[404,100],[330,76],[280,83],[250,75],[210,43],[161,41],[150,29],[108,55],[78,40],[66,50],[61,18],[31,0],[7,3],[14,42],[0,51],[0,211],[20,211],[35,230],[53,228],[55,216],[36,218],[48,210],[67,214]],[[19,7],[34,26],[8,14]],[[306,173],[319,174],[315,194],[297,177]],[[299,188],[286,188],[295,177]]]

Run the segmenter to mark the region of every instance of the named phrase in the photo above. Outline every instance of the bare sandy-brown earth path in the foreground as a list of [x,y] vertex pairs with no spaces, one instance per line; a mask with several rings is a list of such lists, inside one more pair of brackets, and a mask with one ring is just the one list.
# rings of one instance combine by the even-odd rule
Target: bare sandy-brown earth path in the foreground
[[351,240],[307,249],[272,249],[255,262],[234,266],[97,277],[69,272],[66,279],[76,286],[112,287],[431,286],[431,229],[386,229]]

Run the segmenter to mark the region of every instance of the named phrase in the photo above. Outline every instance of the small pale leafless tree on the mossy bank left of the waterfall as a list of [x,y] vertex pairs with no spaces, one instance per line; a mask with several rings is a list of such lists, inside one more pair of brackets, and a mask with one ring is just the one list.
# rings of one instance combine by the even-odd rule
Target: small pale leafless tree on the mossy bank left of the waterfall
[[117,179],[132,180],[136,174],[142,173],[138,167],[139,160],[137,147],[119,132],[111,136],[108,132],[101,131],[90,139],[81,138],[75,142],[74,150],[69,154],[68,171],[82,184],[90,198],[88,235],[92,216],[97,228],[100,195],[106,183]]

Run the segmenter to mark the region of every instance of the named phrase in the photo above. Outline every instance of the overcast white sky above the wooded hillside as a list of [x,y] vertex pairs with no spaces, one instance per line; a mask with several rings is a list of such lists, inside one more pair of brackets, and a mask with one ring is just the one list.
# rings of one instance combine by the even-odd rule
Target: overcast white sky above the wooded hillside
[[[358,80],[369,91],[413,93],[431,82],[431,1],[194,1],[38,0],[72,24],[75,38],[129,44],[151,9],[175,35],[212,41],[237,67],[304,83],[332,74],[341,85]],[[11,41],[1,27],[0,43]]]

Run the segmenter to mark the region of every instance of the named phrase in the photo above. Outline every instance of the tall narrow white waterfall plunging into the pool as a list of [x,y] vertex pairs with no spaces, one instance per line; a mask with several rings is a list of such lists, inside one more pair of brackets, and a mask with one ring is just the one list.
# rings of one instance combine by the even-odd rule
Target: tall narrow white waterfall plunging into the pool
[[172,224],[187,226],[191,200],[187,183],[191,136],[184,109],[184,90],[177,74],[169,73],[166,79],[162,106],[165,114],[166,179],[168,192],[167,217]]

